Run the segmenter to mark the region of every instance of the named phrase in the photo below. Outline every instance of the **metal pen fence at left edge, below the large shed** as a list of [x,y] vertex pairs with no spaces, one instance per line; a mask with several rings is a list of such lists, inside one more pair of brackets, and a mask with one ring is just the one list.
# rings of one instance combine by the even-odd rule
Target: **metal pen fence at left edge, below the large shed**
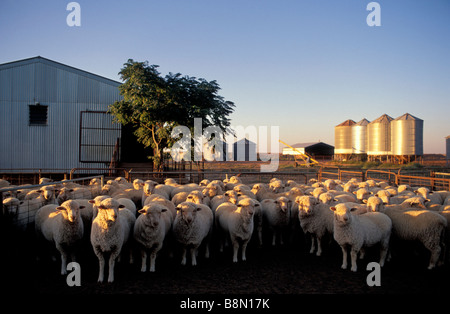
[[[90,180],[98,178],[100,179],[100,186],[103,186],[104,177],[102,175],[84,177],[72,180],[65,181],[56,181],[49,182],[43,184],[33,184],[33,185],[21,185],[14,187],[6,187],[0,189],[0,204],[2,204],[1,211],[1,220],[2,222],[9,222],[10,225],[20,229],[27,230],[30,225],[34,223],[34,217],[39,208],[43,206],[42,201],[33,199],[33,200],[25,200],[23,196],[19,196],[17,192],[19,191],[32,191],[32,190],[40,190],[44,186],[55,186],[57,189],[62,188],[70,182],[77,182],[78,184],[83,185],[84,187],[89,188],[91,191],[93,189],[98,189],[98,186],[89,185]],[[22,193],[24,194],[24,193]],[[3,201],[8,197],[20,198],[20,204],[17,206],[13,206],[11,208],[7,208]]]

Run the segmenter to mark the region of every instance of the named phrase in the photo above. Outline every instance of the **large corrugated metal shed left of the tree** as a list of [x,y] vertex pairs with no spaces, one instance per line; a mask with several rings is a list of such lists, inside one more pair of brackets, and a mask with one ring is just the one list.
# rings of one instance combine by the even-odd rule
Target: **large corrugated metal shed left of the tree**
[[121,133],[106,114],[119,85],[42,57],[0,64],[0,169],[106,167]]

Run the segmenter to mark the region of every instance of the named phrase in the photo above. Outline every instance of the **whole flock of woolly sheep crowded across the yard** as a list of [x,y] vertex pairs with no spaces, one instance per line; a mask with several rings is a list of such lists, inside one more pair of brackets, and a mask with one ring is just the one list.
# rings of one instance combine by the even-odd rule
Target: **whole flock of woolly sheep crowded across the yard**
[[299,184],[274,178],[249,186],[236,176],[184,185],[173,179],[164,184],[140,179],[129,183],[118,177],[104,186],[93,179],[89,186],[69,182],[18,190],[3,206],[15,217],[37,208],[37,237],[61,254],[61,274],[67,273],[76,246],[89,238],[99,261],[98,282],[104,281],[106,259],[108,282],[113,282],[115,261],[129,254],[132,262],[136,249],[142,272],[147,271],[148,254],[149,271],[155,271],[163,247],[181,248],[181,264],[189,258],[196,265],[201,245],[208,258],[212,244],[218,243],[220,252],[228,244],[233,262],[238,262],[239,252],[246,260],[250,239],[259,246],[269,237],[271,245],[282,244],[283,236],[300,228],[311,237],[310,253],[317,256],[323,240],[334,238],[342,248],[342,268],[347,268],[350,254],[352,271],[357,271],[358,255],[363,258],[371,246],[379,248],[383,266],[395,249],[393,241],[422,243],[430,252],[429,269],[448,260],[450,192],[373,180]]

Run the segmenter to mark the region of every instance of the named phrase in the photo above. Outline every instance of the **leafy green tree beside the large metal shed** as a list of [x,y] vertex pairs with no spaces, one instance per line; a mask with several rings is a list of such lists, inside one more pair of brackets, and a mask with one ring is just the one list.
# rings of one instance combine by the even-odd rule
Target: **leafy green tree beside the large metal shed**
[[135,126],[138,141],[153,148],[155,170],[163,165],[163,149],[174,139],[171,130],[177,125],[194,127],[194,118],[202,118],[202,127],[218,126],[224,133],[230,126],[228,116],[234,103],[218,94],[216,81],[169,73],[165,77],[157,65],[129,59],[119,72],[124,83],[119,86],[123,100],[109,106],[116,122]]

